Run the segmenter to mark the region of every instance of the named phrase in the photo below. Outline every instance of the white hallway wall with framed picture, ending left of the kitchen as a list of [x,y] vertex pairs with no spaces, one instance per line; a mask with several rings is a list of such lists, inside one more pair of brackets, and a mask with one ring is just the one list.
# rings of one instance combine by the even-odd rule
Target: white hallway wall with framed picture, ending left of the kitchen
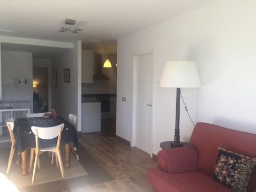
[[[64,82],[63,70],[70,69],[70,82]],[[57,70],[57,88],[52,83],[52,106],[57,114],[69,119],[69,113],[81,118],[81,41],[74,43],[74,49],[52,59],[52,71]],[[81,130],[78,123],[78,131]]]

